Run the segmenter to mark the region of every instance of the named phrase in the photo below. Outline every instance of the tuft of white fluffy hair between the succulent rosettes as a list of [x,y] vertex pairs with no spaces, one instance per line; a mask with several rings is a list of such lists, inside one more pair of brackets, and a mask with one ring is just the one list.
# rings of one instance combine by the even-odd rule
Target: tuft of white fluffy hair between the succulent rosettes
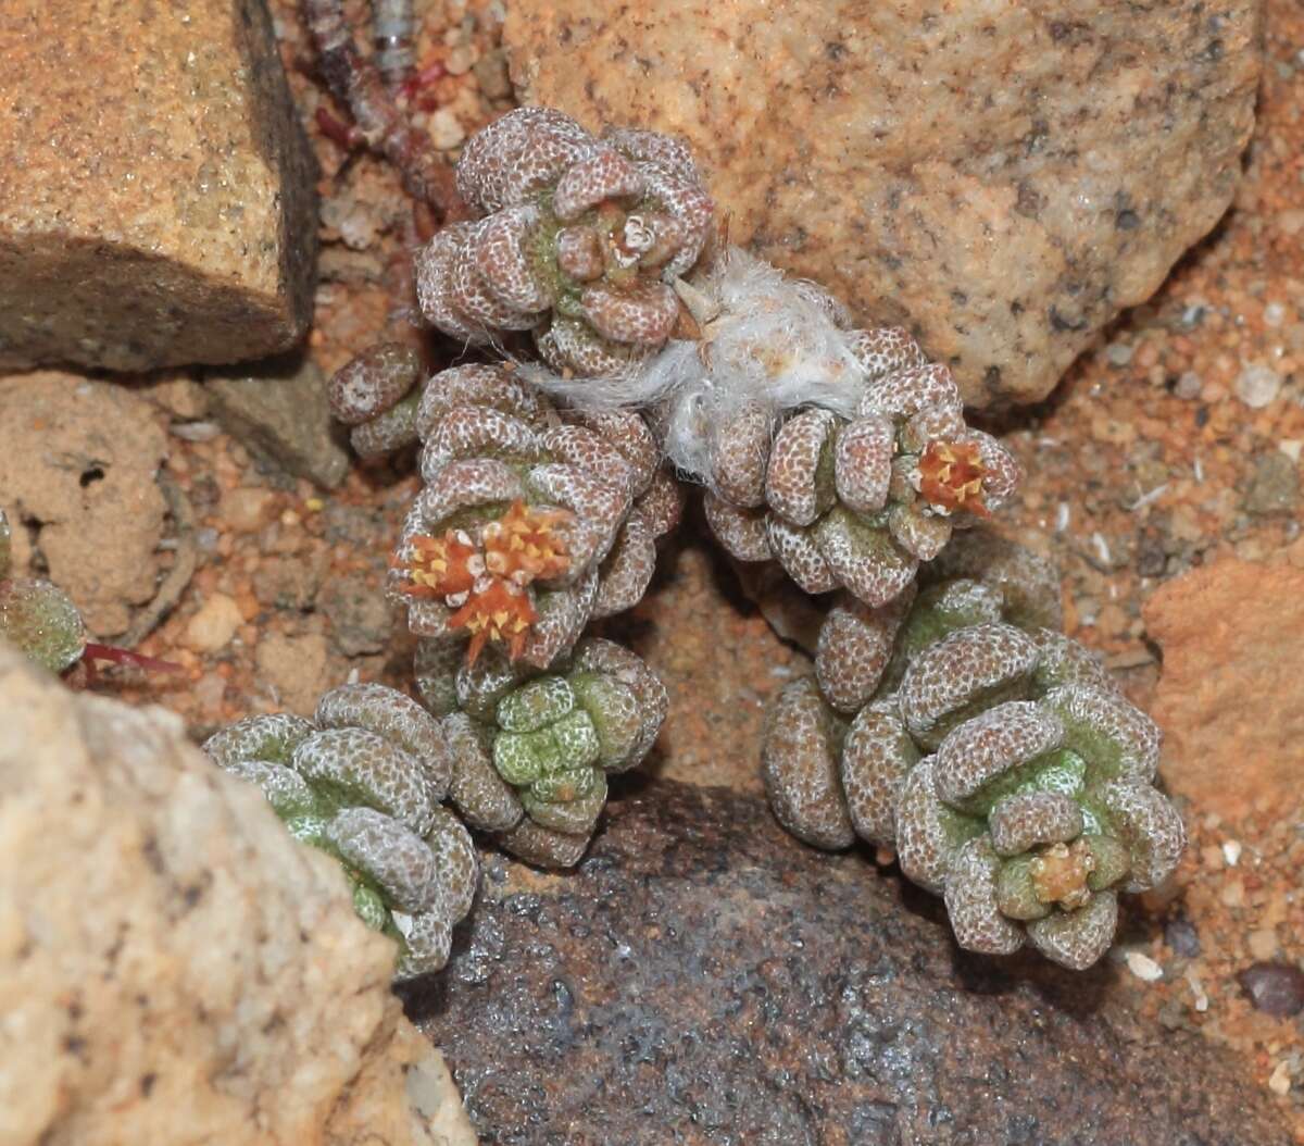
[[666,457],[699,482],[711,472],[711,428],[745,405],[765,403],[775,415],[797,406],[855,414],[865,368],[852,352],[846,311],[818,286],[730,247],[677,288],[700,342],[672,339],[604,377],[566,379],[533,363],[518,373],[578,409],[656,407]]

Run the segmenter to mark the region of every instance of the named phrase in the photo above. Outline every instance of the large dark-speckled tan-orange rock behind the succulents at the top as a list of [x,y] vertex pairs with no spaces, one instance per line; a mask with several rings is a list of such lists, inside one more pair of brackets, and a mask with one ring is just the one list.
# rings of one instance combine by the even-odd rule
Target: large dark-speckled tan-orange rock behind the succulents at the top
[[[781,10],[781,14],[780,14]],[[512,0],[529,102],[685,133],[729,235],[1028,402],[1231,201],[1261,0]]]

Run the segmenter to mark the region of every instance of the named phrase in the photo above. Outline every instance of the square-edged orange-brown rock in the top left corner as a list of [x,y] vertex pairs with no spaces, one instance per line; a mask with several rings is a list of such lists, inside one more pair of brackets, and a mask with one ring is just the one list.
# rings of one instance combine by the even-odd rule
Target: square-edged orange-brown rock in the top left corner
[[10,0],[0,59],[0,367],[303,334],[313,161],[263,0]]

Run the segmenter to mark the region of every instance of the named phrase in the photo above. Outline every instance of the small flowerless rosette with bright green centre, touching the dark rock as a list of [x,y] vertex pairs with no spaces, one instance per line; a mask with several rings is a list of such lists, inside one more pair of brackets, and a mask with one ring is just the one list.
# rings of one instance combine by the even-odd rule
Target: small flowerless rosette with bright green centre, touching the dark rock
[[643,761],[666,692],[612,641],[587,638],[565,666],[526,675],[501,654],[475,664],[422,642],[417,685],[452,756],[450,795],[473,828],[528,863],[579,861],[606,801],[606,775]]

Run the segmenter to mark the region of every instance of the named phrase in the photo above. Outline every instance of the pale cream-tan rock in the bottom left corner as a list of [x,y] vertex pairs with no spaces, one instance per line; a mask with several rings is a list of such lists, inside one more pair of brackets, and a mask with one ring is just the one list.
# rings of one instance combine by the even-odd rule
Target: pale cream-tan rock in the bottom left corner
[[469,1146],[393,970],[180,719],[0,645],[0,1142]]

